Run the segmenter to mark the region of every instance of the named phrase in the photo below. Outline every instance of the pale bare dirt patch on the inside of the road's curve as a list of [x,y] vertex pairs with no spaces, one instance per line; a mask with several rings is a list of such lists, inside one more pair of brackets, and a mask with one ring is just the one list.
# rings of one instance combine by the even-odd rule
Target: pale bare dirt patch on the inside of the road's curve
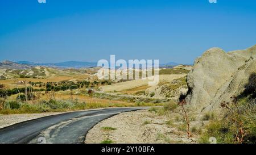
[[[171,124],[169,120],[167,116],[159,116],[148,110],[125,112],[95,125],[86,135],[85,143],[196,143],[195,138],[188,139],[187,133],[178,129],[180,122]],[[114,129],[105,130],[106,127]]]

